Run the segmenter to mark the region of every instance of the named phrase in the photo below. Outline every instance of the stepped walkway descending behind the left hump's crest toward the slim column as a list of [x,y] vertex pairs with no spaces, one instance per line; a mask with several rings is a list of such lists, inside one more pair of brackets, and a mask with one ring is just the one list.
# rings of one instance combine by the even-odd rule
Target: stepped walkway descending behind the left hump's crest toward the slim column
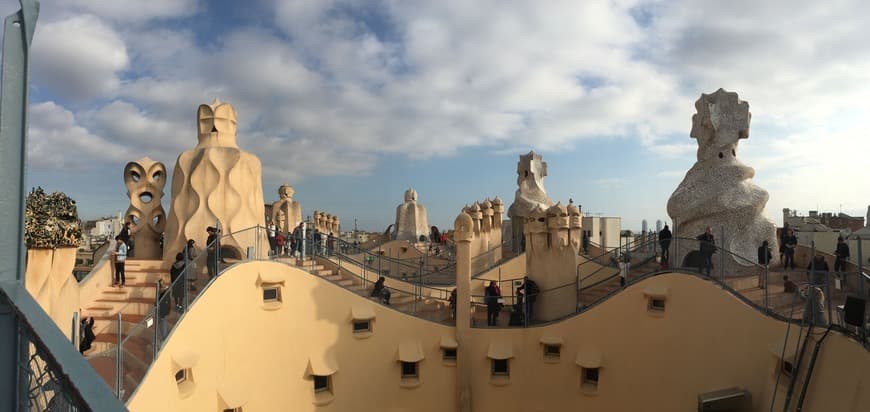
[[[347,270],[339,271],[338,264],[329,259],[312,259],[310,257],[297,259],[282,257],[277,258],[276,260],[291,266],[296,266],[366,299],[380,303],[378,299],[369,296],[372,290],[372,282],[364,282],[362,278]],[[453,323],[453,319],[450,315],[450,307],[447,302],[440,299],[414,296],[412,293],[394,289],[390,286],[391,282],[398,281],[392,279],[386,281],[386,286],[392,293],[389,305],[391,308],[435,322]]]

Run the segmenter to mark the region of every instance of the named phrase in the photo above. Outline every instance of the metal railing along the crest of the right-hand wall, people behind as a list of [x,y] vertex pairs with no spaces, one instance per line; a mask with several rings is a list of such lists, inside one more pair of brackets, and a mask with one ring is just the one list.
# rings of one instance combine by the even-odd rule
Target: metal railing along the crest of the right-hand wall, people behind
[[[867,344],[870,308],[865,311],[861,325],[846,325],[843,319],[847,296],[868,297],[870,276],[864,274],[863,269],[834,273],[824,265],[817,267],[810,262],[805,270],[786,271],[780,267],[759,264],[757,257],[747,258],[722,248],[726,236],[721,232],[719,236],[722,239],[717,239],[715,245],[708,245],[712,247],[704,247],[703,253],[703,242],[697,238],[672,238],[668,250],[671,257],[669,262],[662,259],[661,244],[655,236],[643,236],[600,255],[583,257],[581,259],[585,260],[578,264],[574,281],[540,290],[535,296],[534,305],[541,305],[549,299],[563,303],[568,301],[562,305],[562,312],[546,321],[538,321],[534,317],[529,319],[529,312],[536,310],[535,307],[528,307],[527,298],[520,298],[516,293],[519,279],[496,281],[503,295],[497,308],[499,321],[495,326],[528,327],[555,322],[584,312],[641,280],[677,272],[713,281],[757,310],[777,319],[813,326],[833,323]],[[860,242],[858,245],[858,254],[862,255]],[[587,270],[584,266],[595,269]],[[788,277],[787,282],[784,276]],[[569,296],[572,293],[573,299]],[[573,307],[570,304],[572,300]],[[491,322],[482,319],[482,313],[496,309],[493,301],[477,294],[472,296],[470,304],[472,325],[491,327],[488,325]],[[509,309],[507,313],[505,309]],[[522,316],[515,312],[520,312]],[[505,318],[508,320],[505,321]]]

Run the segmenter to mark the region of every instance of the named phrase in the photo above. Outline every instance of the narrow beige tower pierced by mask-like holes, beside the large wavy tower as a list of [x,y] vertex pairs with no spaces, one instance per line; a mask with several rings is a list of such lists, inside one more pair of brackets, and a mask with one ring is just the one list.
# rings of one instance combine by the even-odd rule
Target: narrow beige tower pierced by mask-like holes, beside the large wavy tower
[[166,166],[143,157],[124,167],[124,184],[130,207],[124,219],[132,222],[134,256],[137,259],[160,259],[160,235],[166,227],[163,210],[163,187],[166,185]]

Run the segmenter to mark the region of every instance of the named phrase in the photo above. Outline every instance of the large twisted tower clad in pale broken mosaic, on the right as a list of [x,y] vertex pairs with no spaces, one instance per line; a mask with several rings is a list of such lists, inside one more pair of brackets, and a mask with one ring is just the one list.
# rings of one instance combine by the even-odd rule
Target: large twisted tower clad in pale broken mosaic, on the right
[[737,158],[738,141],[749,137],[749,104],[719,89],[702,94],[695,108],[691,137],[698,141],[698,161],[668,200],[668,214],[675,237],[695,238],[709,226],[718,246],[748,259],[728,255],[725,270],[731,272],[755,262],[763,241],[778,248],[776,228],[763,214],[767,191],[752,183],[755,170]]

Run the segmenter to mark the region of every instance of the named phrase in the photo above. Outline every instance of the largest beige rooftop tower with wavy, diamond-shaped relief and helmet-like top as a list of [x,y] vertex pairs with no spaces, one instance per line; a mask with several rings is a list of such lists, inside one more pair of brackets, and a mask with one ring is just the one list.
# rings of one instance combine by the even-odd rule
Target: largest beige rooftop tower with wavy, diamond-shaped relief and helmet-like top
[[172,174],[163,259],[174,259],[188,239],[204,247],[205,229],[218,222],[221,253],[241,258],[247,247],[268,244],[265,231],[241,232],[266,223],[260,159],[239,149],[236,110],[229,103],[200,105],[196,120],[197,145],[178,156]]

